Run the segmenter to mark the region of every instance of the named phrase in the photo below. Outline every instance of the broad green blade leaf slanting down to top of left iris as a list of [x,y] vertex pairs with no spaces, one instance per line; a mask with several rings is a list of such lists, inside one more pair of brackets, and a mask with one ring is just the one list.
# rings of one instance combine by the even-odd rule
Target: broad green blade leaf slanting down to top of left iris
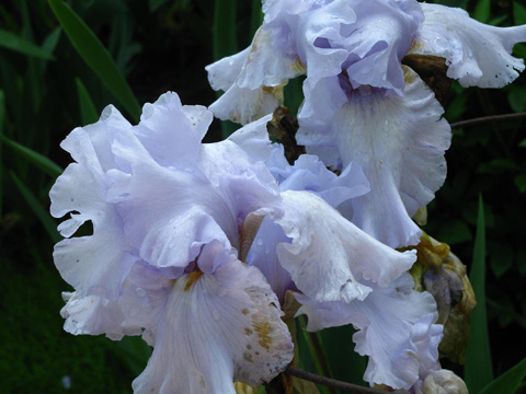
[[48,0],[71,44],[87,65],[126,108],[135,121],[139,120],[140,106],[110,53],[84,22],[61,0]]

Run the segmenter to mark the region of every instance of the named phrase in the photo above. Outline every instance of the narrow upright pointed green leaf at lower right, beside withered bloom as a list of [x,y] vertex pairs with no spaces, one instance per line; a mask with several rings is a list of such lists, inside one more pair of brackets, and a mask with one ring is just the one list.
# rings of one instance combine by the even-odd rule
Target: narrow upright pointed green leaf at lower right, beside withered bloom
[[482,197],[479,197],[477,236],[469,279],[477,297],[471,314],[471,334],[466,350],[465,379],[470,393],[479,393],[493,380],[485,311],[485,223]]

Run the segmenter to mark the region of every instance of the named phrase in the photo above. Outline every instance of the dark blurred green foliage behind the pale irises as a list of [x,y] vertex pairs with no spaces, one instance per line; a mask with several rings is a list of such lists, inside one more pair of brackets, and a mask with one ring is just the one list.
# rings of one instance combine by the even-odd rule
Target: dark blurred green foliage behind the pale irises
[[[59,143],[75,127],[95,121],[110,103],[130,120],[138,115],[133,101],[126,105],[111,89],[115,80],[101,79],[68,39],[49,5],[61,1],[0,3],[0,393],[130,393],[148,347],[138,338],[113,343],[71,336],[62,331],[59,316],[60,292],[70,289],[53,264],[53,245],[60,236],[58,221],[47,213],[49,188],[71,161]],[[526,8],[519,1],[435,2],[462,7],[489,24],[526,24]],[[135,103],[141,104],[172,90],[184,104],[209,105],[216,93],[204,67],[247,47],[261,23],[256,0],[66,3],[107,49]],[[515,54],[526,58],[526,45],[516,45]],[[290,108],[297,108],[299,86],[294,81],[287,88]],[[523,111],[525,74],[499,91],[454,83],[446,118],[455,123]],[[231,126],[215,120],[206,140],[220,139],[221,128]],[[447,152],[448,178],[428,207],[424,228],[469,265],[482,194],[495,376],[525,356],[525,120],[456,129]],[[317,335],[316,341],[325,349],[333,376],[359,383],[364,360],[350,357],[351,335],[350,327],[333,328]],[[309,352],[312,338],[298,337],[302,367],[313,371],[319,367]],[[460,367],[451,368],[462,373]]]

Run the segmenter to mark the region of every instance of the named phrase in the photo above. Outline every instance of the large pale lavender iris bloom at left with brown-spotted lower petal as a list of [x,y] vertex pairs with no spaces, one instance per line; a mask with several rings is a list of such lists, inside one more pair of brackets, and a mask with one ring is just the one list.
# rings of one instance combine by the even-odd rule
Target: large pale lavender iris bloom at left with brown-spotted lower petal
[[[270,154],[268,140],[247,137],[266,134],[267,119],[238,143],[202,144],[211,118],[167,93],[137,126],[110,106],[62,142],[76,161],[50,192],[52,213],[71,212],[54,253],[76,289],[65,328],[142,335],[155,350],[136,393],[235,393],[232,380],[270,381],[293,357],[276,296],[238,256],[247,216],[281,200],[264,164],[238,144]],[[93,235],[69,237],[85,221]]]

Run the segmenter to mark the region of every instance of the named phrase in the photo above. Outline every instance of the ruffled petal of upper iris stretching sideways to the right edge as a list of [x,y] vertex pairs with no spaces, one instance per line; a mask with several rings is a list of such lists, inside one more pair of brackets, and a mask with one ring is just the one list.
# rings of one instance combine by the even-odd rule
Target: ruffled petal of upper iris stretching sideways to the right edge
[[446,58],[447,77],[462,86],[502,88],[524,70],[511,55],[526,42],[526,25],[495,27],[480,23],[458,8],[422,3],[425,21],[414,37],[413,54]]

